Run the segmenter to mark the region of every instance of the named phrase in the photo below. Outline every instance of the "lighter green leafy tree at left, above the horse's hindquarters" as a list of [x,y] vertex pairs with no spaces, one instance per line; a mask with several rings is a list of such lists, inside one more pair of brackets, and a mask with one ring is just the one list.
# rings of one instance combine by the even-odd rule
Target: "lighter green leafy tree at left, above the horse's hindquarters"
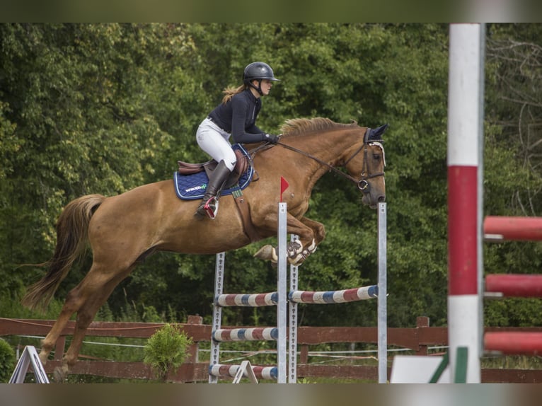
[[[164,172],[173,137],[147,95],[161,98],[154,69],[173,68],[190,47],[170,25],[2,24],[0,37],[0,270],[12,274],[50,255],[71,199],[115,195]],[[5,281],[6,291],[37,274],[25,276]]]

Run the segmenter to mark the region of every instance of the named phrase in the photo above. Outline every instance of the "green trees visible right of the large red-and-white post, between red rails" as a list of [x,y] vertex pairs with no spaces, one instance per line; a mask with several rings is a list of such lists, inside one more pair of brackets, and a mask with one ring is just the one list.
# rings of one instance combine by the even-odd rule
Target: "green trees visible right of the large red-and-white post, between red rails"
[[[488,25],[484,212],[540,216],[542,190],[542,30],[537,24]],[[536,242],[484,247],[486,274],[539,273]],[[485,302],[486,325],[541,325],[539,299]]]

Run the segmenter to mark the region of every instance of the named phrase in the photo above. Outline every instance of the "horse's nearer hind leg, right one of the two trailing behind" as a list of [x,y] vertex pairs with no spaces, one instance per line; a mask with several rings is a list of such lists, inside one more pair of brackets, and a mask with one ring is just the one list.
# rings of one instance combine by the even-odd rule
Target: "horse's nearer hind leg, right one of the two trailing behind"
[[69,370],[76,364],[88,325],[92,323],[98,309],[107,301],[115,286],[132,271],[132,268],[129,267],[125,272],[105,274],[96,271],[96,267],[93,266],[85,279],[79,284],[79,294],[84,299],[77,311],[74,336],[62,359],[62,367],[54,371],[54,377],[57,381],[64,381]]

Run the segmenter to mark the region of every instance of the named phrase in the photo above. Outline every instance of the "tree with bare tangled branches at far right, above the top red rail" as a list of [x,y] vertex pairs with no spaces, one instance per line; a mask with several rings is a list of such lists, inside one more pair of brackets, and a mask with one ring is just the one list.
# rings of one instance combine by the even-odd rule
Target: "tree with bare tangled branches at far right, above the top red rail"
[[[519,166],[521,177],[512,180],[512,209],[517,215],[541,212],[542,163],[542,30],[536,24],[492,25],[488,38],[488,64],[492,66],[488,93],[494,103],[488,109],[500,132],[490,139],[514,151],[506,156]],[[502,162],[501,162],[502,163]],[[509,174],[514,176],[515,173]],[[514,177],[515,178],[515,177]],[[518,182],[519,180],[519,182]]]

